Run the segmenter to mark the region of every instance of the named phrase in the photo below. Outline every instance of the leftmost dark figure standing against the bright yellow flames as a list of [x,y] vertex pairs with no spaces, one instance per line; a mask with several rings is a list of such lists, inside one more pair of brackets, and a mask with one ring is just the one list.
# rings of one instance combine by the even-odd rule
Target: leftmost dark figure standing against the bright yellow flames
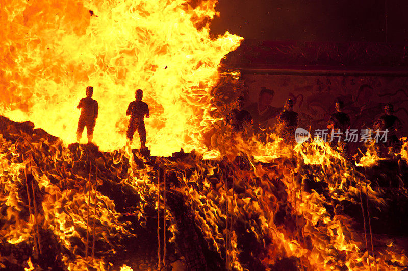
[[81,109],[81,115],[77,127],[77,141],[80,142],[82,132],[86,126],[88,143],[91,143],[93,139],[93,128],[95,127],[96,118],[98,117],[98,102],[91,98],[93,87],[86,87],[85,94],[86,98],[81,99],[77,106],[78,109]]

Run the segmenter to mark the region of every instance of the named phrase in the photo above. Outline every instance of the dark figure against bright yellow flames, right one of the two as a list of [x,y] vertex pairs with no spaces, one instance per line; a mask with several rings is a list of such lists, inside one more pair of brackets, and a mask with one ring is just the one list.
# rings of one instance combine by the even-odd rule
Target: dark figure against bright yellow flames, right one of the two
[[143,90],[138,89],[135,93],[136,100],[129,104],[126,116],[131,116],[129,126],[127,126],[126,136],[132,142],[133,134],[137,130],[139,133],[141,149],[146,148],[146,128],[144,127],[144,116],[149,118],[149,106],[142,102]]

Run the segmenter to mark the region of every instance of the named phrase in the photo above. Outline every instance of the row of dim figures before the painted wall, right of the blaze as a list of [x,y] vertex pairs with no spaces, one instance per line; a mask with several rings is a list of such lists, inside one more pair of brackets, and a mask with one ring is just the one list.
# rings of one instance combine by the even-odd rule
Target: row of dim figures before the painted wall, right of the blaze
[[[293,145],[295,142],[295,131],[298,128],[298,113],[293,111],[294,102],[291,98],[287,99],[283,109],[270,106],[273,98],[273,90],[262,88],[258,103],[252,103],[244,109],[244,97],[240,96],[235,102],[235,108],[224,118],[224,123],[231,128],[232,140],[237,136],[246,135],[245,126],[253,129],[254,135],[258,140],[264,141],[263,137],[270,132],[275,132],[283,139],[283,142]],[[347,156],[350,141],[350,117],[343,112],[344,103],[340,99],[335,101],[335,113],[331,114],[327,121],[327,128],[331,129],[330,145],[342,154]],[[376,136],[382,136],[386,133],[384,142],[377,142],[378,146],[392,149],[398,152],[401,146],[397,133],[401,131],[401,121],[394,115],[392,104],[386,104],[385,114],[373,122],[373,129],[377,131]],[[274,129],[268,130],[267,121],[275,119]],[[324,129],[324,130],[328,130]],[[319,129],[321,130],[321,129]],[[380,133],[380,134],[378,134]],[[354,135],[355,136],[355,135]],[[369,138],[370,135],[366,135]],[[335,140],[334,140],[335,139]],[[234,140],[233,140],[234,141]],[[362,142],[359,141],[359,142]]]

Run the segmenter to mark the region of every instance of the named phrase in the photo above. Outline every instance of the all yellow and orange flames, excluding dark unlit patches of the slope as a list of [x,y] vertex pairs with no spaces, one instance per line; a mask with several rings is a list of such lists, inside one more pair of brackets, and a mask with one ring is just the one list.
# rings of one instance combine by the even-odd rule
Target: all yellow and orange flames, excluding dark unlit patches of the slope
[[[201,139],[201,134],[215,121],[211,116],[210,90],[219,79],[217,67],[221,58],[236,48],[241,38],[229,33],[218,39],[209,37],[209,20],[217,15],[215,0],[201,2],[195,8],[184,0],[95,3],[80,0],[6,3],[0,0],[0,3],[0,21],[4,26],[0,29],[3,37],[0,41],[3,56],[0,59],[3,67],[0,114],[14,120],[31,120],[70,143],[74,140],[78,117],[75,105],[84,96],[85,87],[92,85],[100,106],[94,141],[103,150],[120,149],[125,143],[125,109],[133,100],[135,89],[142,88],[144,100],[151,109],[146,126],[147,145],[152,154],[168,155],[180,147],[187,151],[196,149],[207,157],[217,154],[208,151]],[[11,244],[32,241],[34,215],[18,219],[21,210],[27,209],[18,193],[18,187],[24,182],[21,178],[24,163],[17,159],[16,145],[2,137],[0,145],[0,203],[5,206],[8,218],[0,229],[0,237]],[[191,213],[210,249],[223,255],[226,244],[231,244],[231,251],[227,252],[231,267],[246,270],[239,259],[240,233],[234,228],[235,223],[226,229],[228,218],[244,224],[246,232],[253,233],[264,245],[260,261],[265,267],[282,257],[294,257],[299,267],[316,270],[374,267],[374,258],[363,251],[361,237],[351,227],[352,218],[337,212],[334,201],[355,202],[359,193],[366,194],[378,208],[385,205],[385,201],[380,192],[373,191],[370,181],[339,153],[319,140],[297,145],[292,150],[283,147],[274,135],[269,136],[267,144],[254,138],[246,142],[240,140],[231,155],[228,152],[231,146],[225,145],[225,153],[230,158],[235,158],[237,152],[244,154],[250,169],[236,166],[228,173],[216,175],[214,172],[219,168],[206,164],[202,157],[164,162],[174,171],[193,171],[190,177],[186,174],[178,177],[184,185],[174,190],[192,203]],[[60,141],[49,145],[49,155],[41,150],[41,143],[34,147],[36,150],[30,150],[34,156],[32,174],[44,191],[41,204],[44,212],[36,219],[41,227],[57,235],[64,247],[73,251],[72,239],[79,238],[81,244],[85,244],[85,210],[89,204],[84,185],[86,178],[83,173],[62,173],[64,166],[50,166],[71,163],[73,168],[72,153],[64,149]],[[408,157],[406,149],[405,144],[401,151],[404,159]],[[79,151],[84,151],[81,146]],[[138,168],[129,148],[119,153],[119,157],[111,154],[112,160],[119,163],[127,159],[130,168],[126,174],[120,174],[113,167],[106,169],[116,174],[121,185],[139,194],[141,202],[135,213],[141,218],[144,205],[158,197],[160,187],[152,182],[150,174],[154,169],[148,165]],[[263,165],[255,159],[270,164]],[[374,153],[367,152],[357,165],[372,166],[378,159]],[[100,160],[103,159],[95,162],[104,164]],[[234,167],[233,163],[229,164]],[[308,175],[328,185],[324,194],[305,190]],[[67,184],[67,188],[63,190],[52,183],[52,178]],[[210,178],[218,178],[215,187]],[[222,183],[227,184],[228,180],[232,180],[233,187],[226,189],[227,185]],[[359,183],[364,184],[361,190],[356,185]],[[115,211],[114,202],[100,192],[97,197],[98,221],[93,231],[96,239],[109,244],[107,247],[114,253],[109,237],[119,239],[120,235],[133,234],[119,221],[121,214]],[[90,203],[92,205],[94,200]],[[287,208],[288,225],[277,221],[276,214],[283,206]],[[328,206],[333,208],[333,214],[329,213]],[[168,230],[175,235],[175,219],[169,210],[166,214]],[[230,239],[224,239],[227,233]],[[174,235],[170,240],[174,240]],[[408,264],[405,251],[398,249],[393,245],[377,250],[376,264],[381,269],[402,269],[389,263]],[[106,269],[107,266],[103,259],[90,257],[62,255],[62,261],[68,270],[90,266]],[[30,268],[33,266],[31,259],[27,263]],[[131,267],[123,265],[121,269]]]

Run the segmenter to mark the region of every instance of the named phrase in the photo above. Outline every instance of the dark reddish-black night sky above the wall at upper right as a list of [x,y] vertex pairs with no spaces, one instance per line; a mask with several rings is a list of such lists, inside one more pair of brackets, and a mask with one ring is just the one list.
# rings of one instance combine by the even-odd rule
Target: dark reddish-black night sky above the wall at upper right
[[212,34],[293,41],[408,42],[407,0],[219,0]]

